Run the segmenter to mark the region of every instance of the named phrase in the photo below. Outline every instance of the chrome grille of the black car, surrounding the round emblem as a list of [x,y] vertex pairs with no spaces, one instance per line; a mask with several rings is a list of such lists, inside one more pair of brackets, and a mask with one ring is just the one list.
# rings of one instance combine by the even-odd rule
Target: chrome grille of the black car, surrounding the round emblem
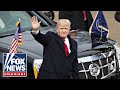
[[[85,73],[86,79],[89,79],[87,73],[90,72],[90,70],[89,70],[89,68],[87,68],[87,70],[85,70],[84,64],[86,62],[94,63],[92,61],[99,60],[100,72],[102,71],[101,72],[102,76],[100,77],[100,79],[105,79],[107,77],[110,77],[116,71],[116,63],[117,62],[116,62],[116,58],[115,58],[115,54],[114,53],[115,53],[114,51],[109,51],[109,52],[106,52],[106,53],[101,53],[99,56],[98,55],[92,55],[92,56],[79,58],[78,61],[79,61],[79,63],[82,64],[82,68],[83,68],[82,70],[79,71],[79,73]],[[113,60],[111,62],[109,62],[108,58],[111,57],[112,55],[113,55]],[[102,65],[101,60],[104,60],[104,59],[106,59],[107,63],[105,65]],[[111,68],[111,65],[113,65],[114,67]],[[104,72],[103,72],[105,67],[108,67],[108,69],[107,69],[108,70],[108,74],[107,75],[104,75]],[[112,70],[110,70],[110,69],[112,69]],[[95,78],[98,79],[97,76]]]

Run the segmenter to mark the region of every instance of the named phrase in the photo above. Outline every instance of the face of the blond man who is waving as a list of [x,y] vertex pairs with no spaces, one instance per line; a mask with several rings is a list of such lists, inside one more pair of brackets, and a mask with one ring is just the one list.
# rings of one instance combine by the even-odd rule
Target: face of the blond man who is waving
[[60,23],[57,26],[57,33],[61,38],[66,38],[70,31],[70,25],[66,23]]

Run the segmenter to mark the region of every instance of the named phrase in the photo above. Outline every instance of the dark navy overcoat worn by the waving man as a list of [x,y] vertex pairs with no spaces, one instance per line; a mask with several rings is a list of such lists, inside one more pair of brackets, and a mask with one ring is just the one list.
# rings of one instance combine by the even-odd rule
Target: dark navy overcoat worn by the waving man
[[69,38],[71,53],[66,57],[63,40],[58,34],[32,34],[35,40],[44,46],[43,63],[39,70],[38,79],[74,79],[79,78],[77,61],[77,42]]

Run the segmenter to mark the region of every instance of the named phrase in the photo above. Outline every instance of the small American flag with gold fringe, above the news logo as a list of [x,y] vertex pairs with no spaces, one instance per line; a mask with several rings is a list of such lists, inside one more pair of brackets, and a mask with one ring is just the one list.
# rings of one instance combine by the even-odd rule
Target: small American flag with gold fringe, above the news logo
[[21,33],[20,19],[16,23],[16,27],[17,29],[15,32],[14,38],[12,40],[9,53],[17,53],[18,45],[22,45],[22,33]]

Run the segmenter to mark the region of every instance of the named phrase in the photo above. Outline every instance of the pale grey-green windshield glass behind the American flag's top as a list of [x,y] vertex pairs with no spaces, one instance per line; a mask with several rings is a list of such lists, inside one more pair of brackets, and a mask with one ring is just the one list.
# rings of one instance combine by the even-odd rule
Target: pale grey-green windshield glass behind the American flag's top
[[31,17],[25,11],[0,11],[0,33],[16,30],[16,22],[19,18],[22,30],[31,27]]

